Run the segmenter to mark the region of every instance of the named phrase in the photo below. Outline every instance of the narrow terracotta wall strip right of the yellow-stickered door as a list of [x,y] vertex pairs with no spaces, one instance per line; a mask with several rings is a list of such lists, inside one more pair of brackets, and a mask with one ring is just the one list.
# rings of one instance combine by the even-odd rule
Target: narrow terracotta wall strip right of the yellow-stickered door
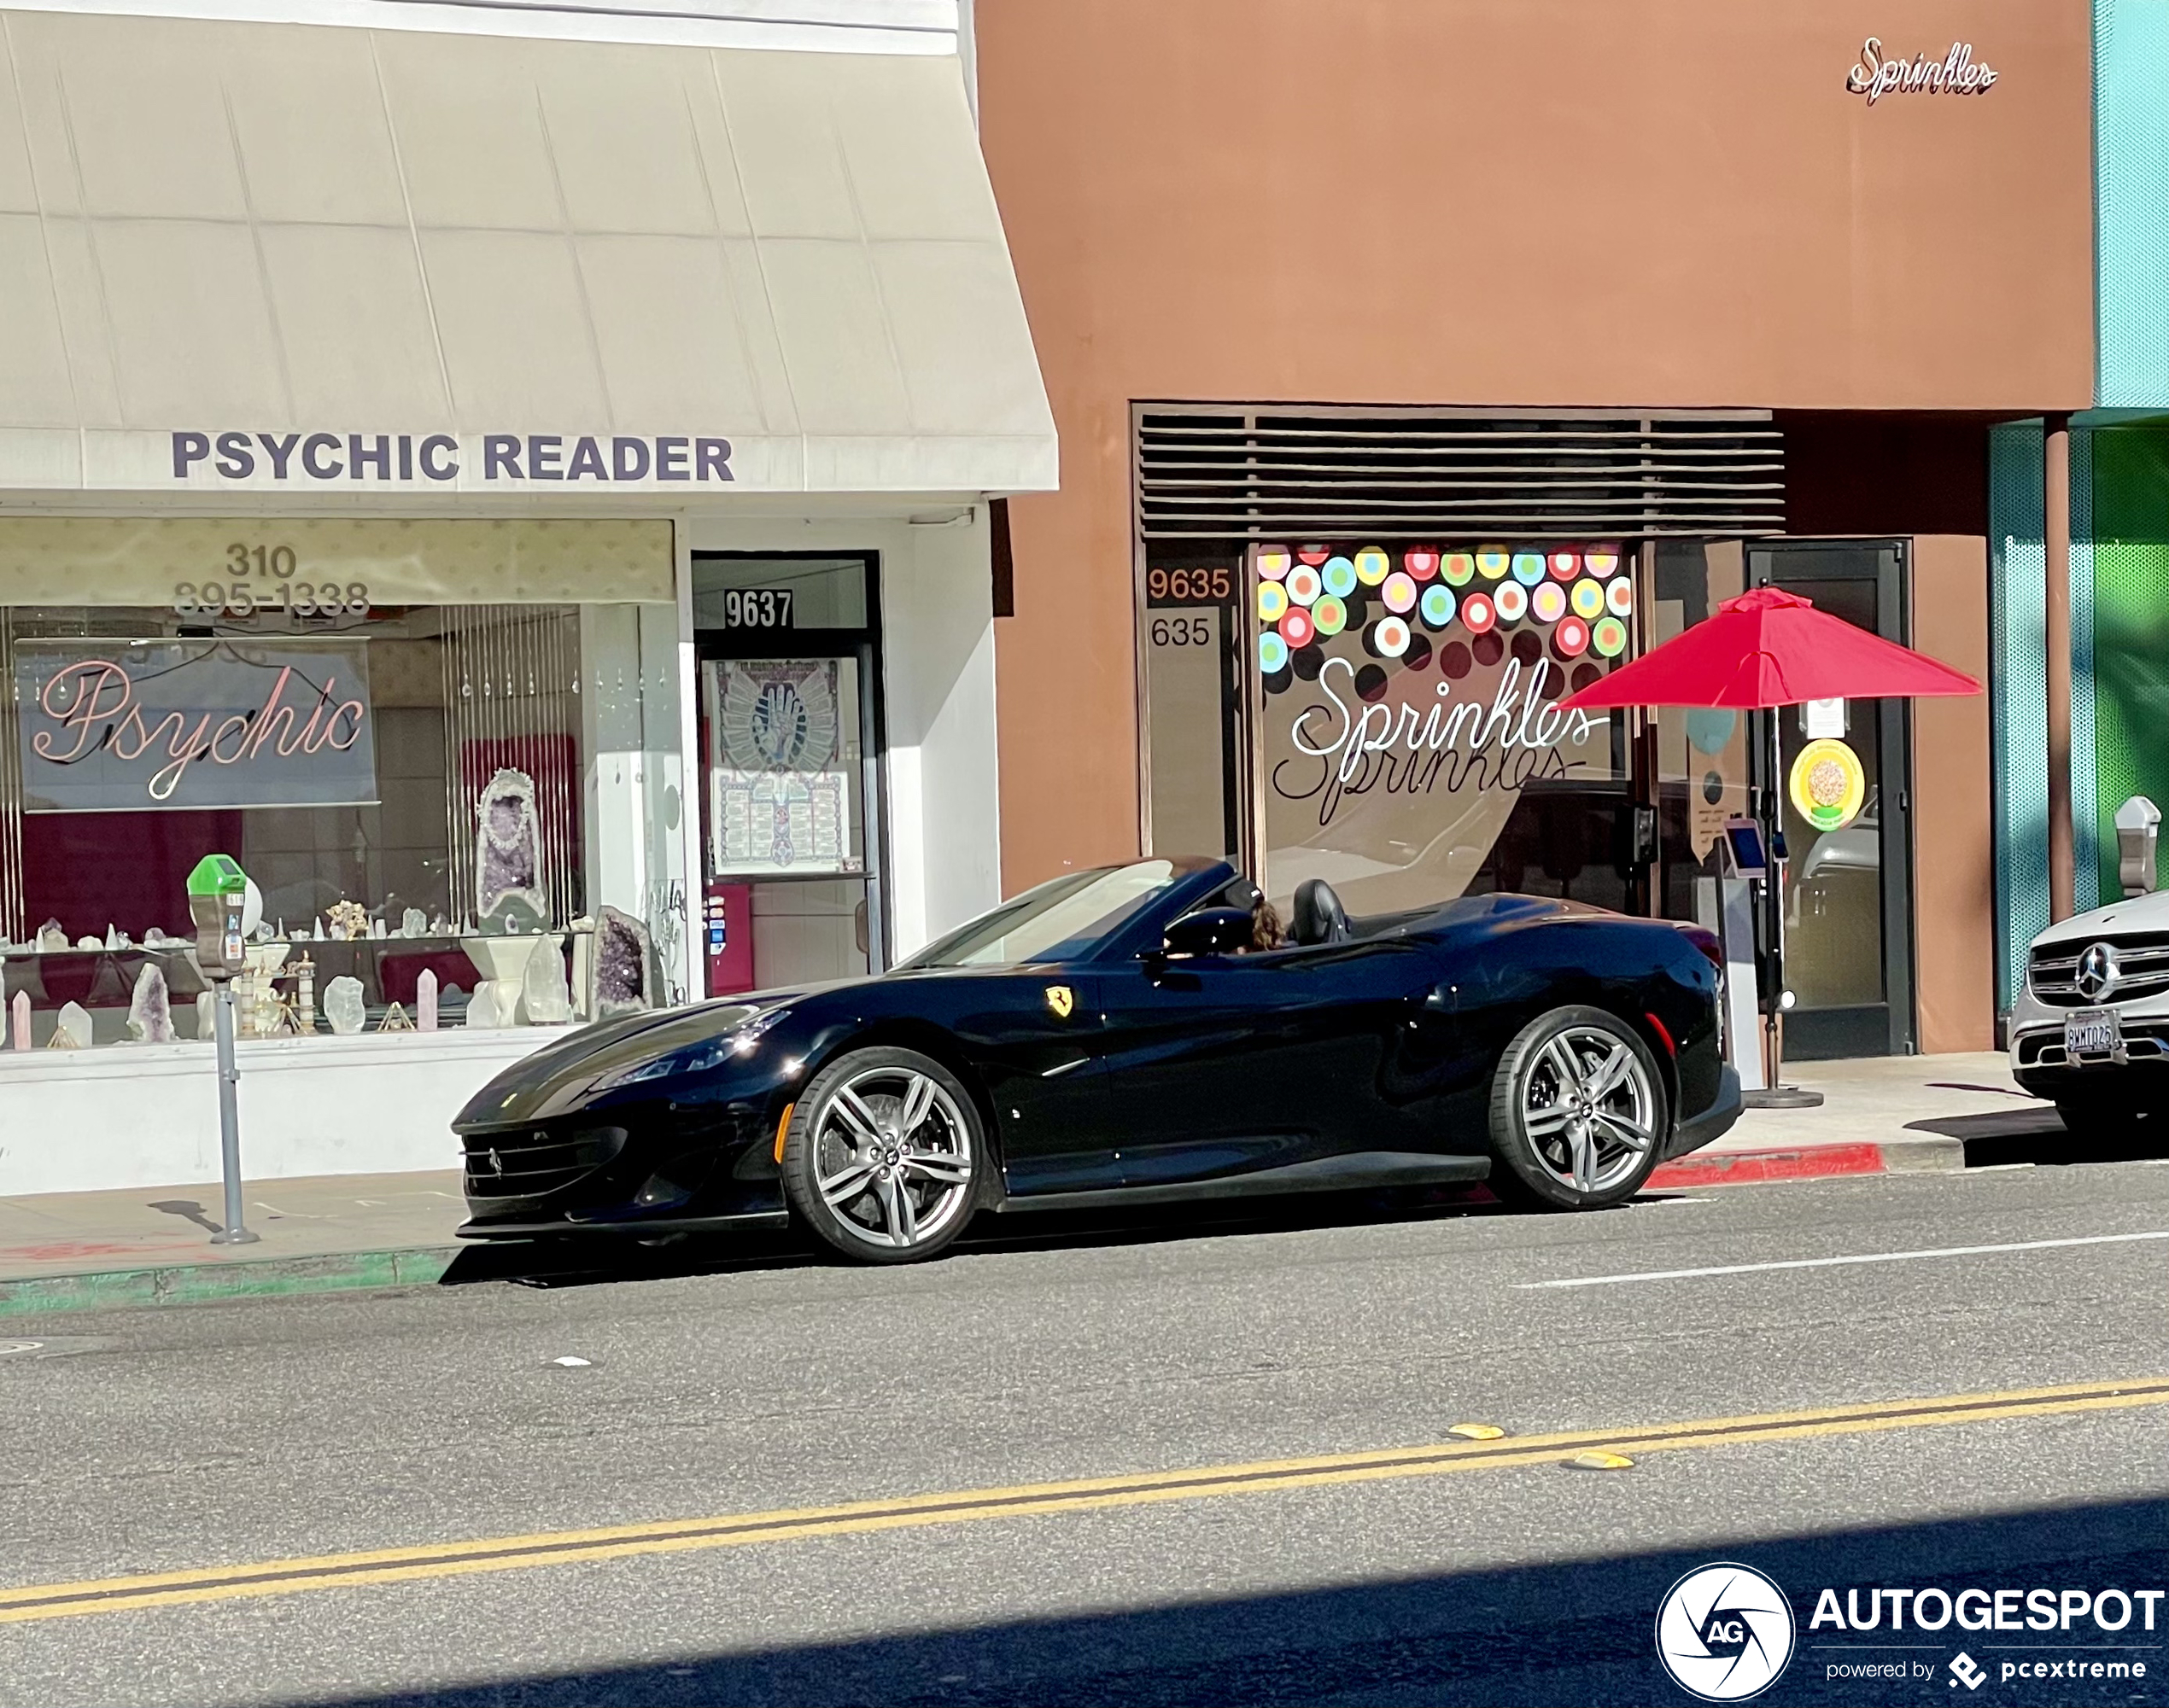
[[[1913,535],[1913,646],[1989,681],[1989,542]],[[1989,696],[1913,702],[1913,1012],[1920,1049],[1995,1049]]]

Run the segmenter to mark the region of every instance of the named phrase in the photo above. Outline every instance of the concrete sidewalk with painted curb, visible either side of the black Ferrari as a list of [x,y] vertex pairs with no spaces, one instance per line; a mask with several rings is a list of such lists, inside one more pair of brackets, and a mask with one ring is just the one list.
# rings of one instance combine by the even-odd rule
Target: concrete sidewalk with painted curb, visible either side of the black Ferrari
[[[1820,1090],[1824,1105],[1748,1110],[1651,1186],[1959,1170],[2084,1149],[1998,1053],[1794,1062],[1785,1079]],[[466,1209],[458,1173],[249,1181],[243,1216],[260,1242],[215,1246],[221,1203],[217,1183],[0,1199],[0,1316],[432,1283]]]

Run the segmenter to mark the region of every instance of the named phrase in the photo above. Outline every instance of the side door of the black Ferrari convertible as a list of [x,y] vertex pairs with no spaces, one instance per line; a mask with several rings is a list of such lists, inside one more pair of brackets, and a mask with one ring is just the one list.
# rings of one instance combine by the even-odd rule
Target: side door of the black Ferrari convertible
[[1399,1092],[1434,984],[1406,939],[1102,969],[1124,1186],[1436,1149]]

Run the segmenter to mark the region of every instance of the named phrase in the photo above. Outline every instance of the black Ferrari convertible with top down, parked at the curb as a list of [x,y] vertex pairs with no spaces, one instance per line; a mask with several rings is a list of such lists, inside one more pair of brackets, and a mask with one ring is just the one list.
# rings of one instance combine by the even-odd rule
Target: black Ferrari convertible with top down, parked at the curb
[[1256,949],[1256,904],[1223,861],[1076,871],[876,978],[581,1027],[460,1112],[460,1233],[796,1216],[894,1264],[980,1209],[1438,1181],[1596,1209],[1740,1114],[1707,932],[1527,895],[1349,919],[1310,880]]

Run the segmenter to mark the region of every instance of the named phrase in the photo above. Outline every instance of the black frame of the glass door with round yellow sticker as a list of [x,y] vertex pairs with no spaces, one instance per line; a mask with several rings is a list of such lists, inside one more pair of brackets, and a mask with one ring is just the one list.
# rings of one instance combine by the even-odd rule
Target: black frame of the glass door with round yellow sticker
[[[1839,561],[1815,561],[1857,557],[1861,553],[1887,553],[1876,566],[1876,633],[1900,646],[1913,644],[1913,542],[1904,538],[1857,538],[1857,540],[1750,540],[1746,542],[1746,583],[1768,587],[1770,581],[1813,583],[1813,581],[1861,581],[1857,568]],[[1783,559],[1783,568],[1774,568]],[[1783,787],[1783,778],[1763,776],[1770,750],[1770,717],[1779,713],[1750,713],[1753,739],[1748,741],[1748,776],[1755,787]],[[1881,817],[1881,878],[1883,878],[1883,1004],[1887,1010],[1883,1053],[1911,1056],[1915,1051],[1917,1017],[1913,1012],[1913,702],[1883,700],[1881,737],[1876,750],[1878,774],[1878,817]],[[1813,1030],[1802,1027],[1809,1019],[1800,1010],[1787,1019],[1785,1053],[1798,1060],[1813,1056],[1859,1053],[1861,1025],[1868,1008],[1818,1010],[1831,1017],[1828,1040],[1818,1040]],[[1852,1019],[1839,1019],[1852,1017]],[[1802,1036],[1807,1032],[1809,1036]]]

